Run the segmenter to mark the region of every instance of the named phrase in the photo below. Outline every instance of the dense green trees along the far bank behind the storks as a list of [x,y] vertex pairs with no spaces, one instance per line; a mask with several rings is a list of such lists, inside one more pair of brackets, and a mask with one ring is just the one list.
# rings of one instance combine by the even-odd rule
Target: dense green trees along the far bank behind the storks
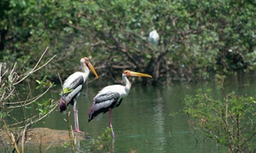
[[[80,70],[83,56],[114,81],[124,69],[152,74],[154,84],[208,78],[254,68],[255,6],[251,0],[4,0],[0,61],[23,64],[30,57],[30,67],[50,45],[48,56],[57,57],[39,75],[53,80],[57,72],[66,78]],[[147,42],[154,29],[157,48]]]

